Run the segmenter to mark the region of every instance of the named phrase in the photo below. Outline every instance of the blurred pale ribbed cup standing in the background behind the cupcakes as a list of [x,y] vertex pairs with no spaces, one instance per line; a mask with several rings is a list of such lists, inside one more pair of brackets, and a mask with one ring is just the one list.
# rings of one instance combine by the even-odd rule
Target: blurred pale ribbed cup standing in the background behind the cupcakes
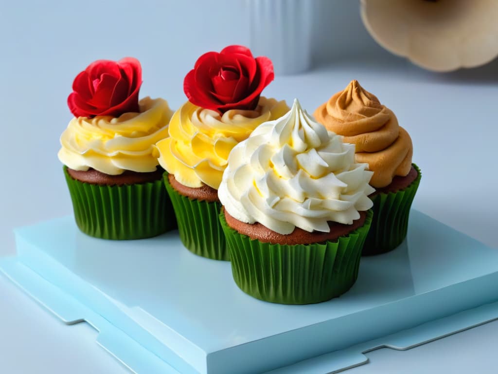
[[246,0],[250,49],[273,61],[275,74],[296,74],[311,66],[312,0]]

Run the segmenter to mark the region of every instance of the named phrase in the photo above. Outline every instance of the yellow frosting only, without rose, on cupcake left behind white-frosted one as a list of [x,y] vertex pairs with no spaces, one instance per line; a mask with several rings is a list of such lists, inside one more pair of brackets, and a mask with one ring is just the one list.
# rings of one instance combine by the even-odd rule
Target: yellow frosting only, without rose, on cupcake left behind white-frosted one
[[190,102],[178,109],[169,124],[169,138],[156,144],[159,164],[187,187],[218,189],[228,155],[261,123],[289,110],[285,101],[260,97],[254,110],[218,112]]

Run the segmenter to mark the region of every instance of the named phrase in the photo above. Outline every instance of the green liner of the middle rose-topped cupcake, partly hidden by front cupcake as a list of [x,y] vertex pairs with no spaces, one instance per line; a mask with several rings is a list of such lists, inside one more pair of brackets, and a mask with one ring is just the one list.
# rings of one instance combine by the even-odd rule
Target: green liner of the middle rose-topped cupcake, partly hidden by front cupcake
[[173,203],[183,245],[198,256],[230,261],[218,219],[221,204],[182,195],[171,186],[167,173],[164,173],[164,186]]

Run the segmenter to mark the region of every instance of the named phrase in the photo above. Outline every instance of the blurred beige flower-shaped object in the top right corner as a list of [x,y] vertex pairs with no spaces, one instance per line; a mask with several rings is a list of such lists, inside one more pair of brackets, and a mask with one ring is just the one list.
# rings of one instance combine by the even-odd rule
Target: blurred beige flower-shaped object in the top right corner
[[498,55],[497,0],[362,0],[362,19],[388,51],[433,71]]

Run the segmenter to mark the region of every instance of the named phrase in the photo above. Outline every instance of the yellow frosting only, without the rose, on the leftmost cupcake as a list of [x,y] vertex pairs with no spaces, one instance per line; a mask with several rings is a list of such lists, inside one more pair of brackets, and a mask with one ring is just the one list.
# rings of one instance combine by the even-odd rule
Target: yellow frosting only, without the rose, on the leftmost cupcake
[[73,118],[61,135],[59,160],[73,170],[92,168],[109,175],[155,171],[154,145],[168,136],[173,111],[163,99],[145,97],[138,104],[139,113],[117,118]]

